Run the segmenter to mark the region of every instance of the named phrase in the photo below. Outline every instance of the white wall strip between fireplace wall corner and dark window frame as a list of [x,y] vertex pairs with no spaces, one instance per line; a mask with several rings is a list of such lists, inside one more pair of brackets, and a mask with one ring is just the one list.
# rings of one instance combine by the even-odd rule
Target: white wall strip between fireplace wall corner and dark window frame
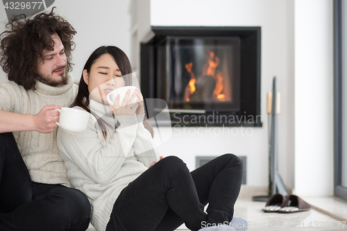
[[[295,191],[333,194],[332,1],[295,1]],[[310,12],[310,13],[307,13]]]

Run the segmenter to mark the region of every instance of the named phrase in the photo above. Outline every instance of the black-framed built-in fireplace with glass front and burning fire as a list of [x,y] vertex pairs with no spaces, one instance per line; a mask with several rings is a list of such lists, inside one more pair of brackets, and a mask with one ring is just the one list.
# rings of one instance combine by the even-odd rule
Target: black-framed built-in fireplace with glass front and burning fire
[[141,89],[167,102],[171,126],[262,126],[259,27],[152,31],[141,44]]

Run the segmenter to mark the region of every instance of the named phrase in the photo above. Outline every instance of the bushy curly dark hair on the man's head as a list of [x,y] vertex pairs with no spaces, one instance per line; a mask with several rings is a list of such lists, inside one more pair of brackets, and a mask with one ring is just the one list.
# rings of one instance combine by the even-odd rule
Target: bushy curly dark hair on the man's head
[[65,47],[67,72],[72,70],[71,51],[75,43],[72,38],[75,29],[65,19],[51,12],[42,12],[35,17],[23,19],[23,15],[15,17],[6,24],[6,31],[0,35],[0,65],[8,74],[8,80],[15,81],[25,89],[34,89],[37,79],[37,58],[42,50],[53,51],[54,42],[51,37],[57,33]]

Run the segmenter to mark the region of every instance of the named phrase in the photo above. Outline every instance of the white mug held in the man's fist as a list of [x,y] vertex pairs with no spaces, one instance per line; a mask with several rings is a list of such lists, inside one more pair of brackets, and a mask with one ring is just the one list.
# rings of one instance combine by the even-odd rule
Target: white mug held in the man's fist
[[88,125],[90,113],[75,108],[56,109],[59,113],[58,126],[66,132],[83,132]]

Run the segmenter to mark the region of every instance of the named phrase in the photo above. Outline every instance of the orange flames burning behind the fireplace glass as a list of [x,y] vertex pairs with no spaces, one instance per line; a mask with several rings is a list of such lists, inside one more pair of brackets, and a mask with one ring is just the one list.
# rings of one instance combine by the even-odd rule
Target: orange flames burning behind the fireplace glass
[[[226,96],[221,94],[223,91],[223,76],[221,71],[217,71],[219,65],[219,58],[214,54],[214,52],[208,49],[208,58],[207,62],[203,65],[203,76],[212,76],[216,86],[214,87],[212,99],[217,99],[219,101],[225,101]],[[192,71],[193,63],[189,62],[185,65],[185,69],[189,72],[191,78],[186,88],[185,99],[187,102],[190,101],[190,96],[195,92],[196,87],[196,78],[194,72]]]

